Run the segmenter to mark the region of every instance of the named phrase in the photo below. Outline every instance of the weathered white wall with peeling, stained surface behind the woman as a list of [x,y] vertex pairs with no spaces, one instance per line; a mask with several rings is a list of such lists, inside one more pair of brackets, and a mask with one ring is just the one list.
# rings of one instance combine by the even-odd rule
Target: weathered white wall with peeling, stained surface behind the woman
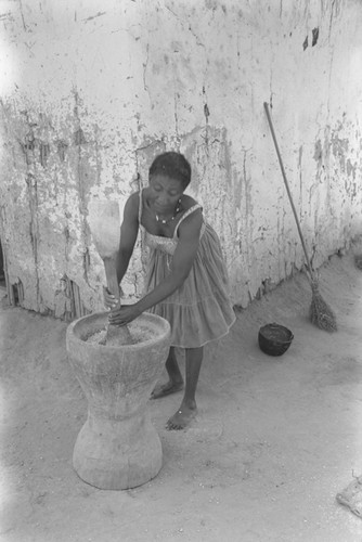
[[[171,149],[192,163],[190,193],[222,240],[235,302],[300,269],[264,101],[314,263],[361,234],[360,0],[0,9],[0,237],[22,306],[62,318],[102,306],[88,203],[124,203]],[[139,251],[130,296],[141,270]]]

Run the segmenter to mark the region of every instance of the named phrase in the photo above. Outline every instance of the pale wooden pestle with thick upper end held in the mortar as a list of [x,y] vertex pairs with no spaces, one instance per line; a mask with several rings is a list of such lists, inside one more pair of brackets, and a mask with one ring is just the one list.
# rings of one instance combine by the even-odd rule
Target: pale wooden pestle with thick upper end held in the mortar
[[[99,199],[91,202],[89,204],[88,219],[95,248],[104,263],[107,288],[116,299],[119,299],[116,258],[119,248],[120,220],[117,202]],[[118,327],[108,323],[106,345],[117,346],[127,344],[132,344],[128,326]]]

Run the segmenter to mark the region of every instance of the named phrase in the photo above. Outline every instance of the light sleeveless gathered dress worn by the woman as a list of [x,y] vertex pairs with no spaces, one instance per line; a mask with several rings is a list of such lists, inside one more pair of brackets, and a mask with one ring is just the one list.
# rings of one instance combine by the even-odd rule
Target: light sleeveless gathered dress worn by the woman
[[[139,223],[150,248],[145,278],[146,293],[170,273],[172,255],[178,245],[181,222],[202,206],[186,210],[177,223],[172,237],[148,233],[141,224],[142,193],[139,195]],[[171,346],[197,348],[229,333],[235,313],[229,294],[228,272],[219,237],[203,222],[199,246],[191,271],[183,284],[169,297],[152,307],[150,312],[165,318],[171,325]]]

